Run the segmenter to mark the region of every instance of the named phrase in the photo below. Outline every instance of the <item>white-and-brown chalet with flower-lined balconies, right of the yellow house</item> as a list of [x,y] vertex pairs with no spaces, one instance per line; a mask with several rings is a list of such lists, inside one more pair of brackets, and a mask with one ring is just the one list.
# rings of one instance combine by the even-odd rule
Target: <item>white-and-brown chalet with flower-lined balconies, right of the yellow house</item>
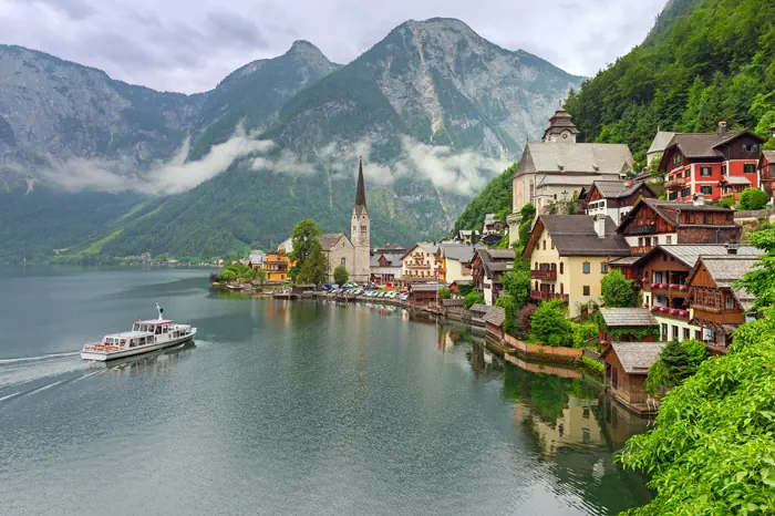
[[661,245],[633,264],[641,278],[643,307],[654,314],[662,340],[702,340],[701,328],[690,323],[689,276],[701,256],[725,257],[730,252],[741,259],[762,255],[753,246]]

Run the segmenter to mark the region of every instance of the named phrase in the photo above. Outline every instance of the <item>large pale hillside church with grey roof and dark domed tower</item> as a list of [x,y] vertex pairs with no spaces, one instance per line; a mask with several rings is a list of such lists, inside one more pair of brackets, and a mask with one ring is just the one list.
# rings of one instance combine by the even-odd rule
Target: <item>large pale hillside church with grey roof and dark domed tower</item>
[[578,128],[559,109],[541,142],[525,146],[514,175],[514,199],[508,218],[512,239],[518,238],[519,210],[528,203],[545,214],[557,200],[571,200],[596,180],[620,180],[632,171],[632,154],[624,144],[577,143]]

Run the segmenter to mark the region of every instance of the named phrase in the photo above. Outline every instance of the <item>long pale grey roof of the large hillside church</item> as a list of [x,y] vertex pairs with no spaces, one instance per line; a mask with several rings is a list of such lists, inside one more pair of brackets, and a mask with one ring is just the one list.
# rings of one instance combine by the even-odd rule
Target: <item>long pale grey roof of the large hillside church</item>
[[624,144],[530,142],[525,146],[516,176],[523,174],[619,175],[632,166]]

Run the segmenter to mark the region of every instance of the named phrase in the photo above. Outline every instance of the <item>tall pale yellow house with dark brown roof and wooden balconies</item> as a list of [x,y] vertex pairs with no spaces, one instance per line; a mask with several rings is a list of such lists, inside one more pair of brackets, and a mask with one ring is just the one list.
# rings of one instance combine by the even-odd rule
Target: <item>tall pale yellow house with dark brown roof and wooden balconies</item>
[[600,303],[600,281],[611,258],[630,256],[630,246],[602,215],[540,215],[523,256],[530,260],[530,299],[565,299],[570,317],[589,301]]

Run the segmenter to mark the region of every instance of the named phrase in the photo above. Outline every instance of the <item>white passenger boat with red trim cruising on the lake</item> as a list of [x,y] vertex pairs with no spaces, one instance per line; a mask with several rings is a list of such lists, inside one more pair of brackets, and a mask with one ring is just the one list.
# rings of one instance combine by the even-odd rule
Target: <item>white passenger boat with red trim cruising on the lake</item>
[[158,319],[135,321],[132,324],[132,331],[112,333],[105,336],[102,342],[84,345],[81,358],[105,362],[179,345],[194,339],[196,328],[165,319],[162,316],[164,310],[158,303],[156,303],[156,310],[158,310]]

